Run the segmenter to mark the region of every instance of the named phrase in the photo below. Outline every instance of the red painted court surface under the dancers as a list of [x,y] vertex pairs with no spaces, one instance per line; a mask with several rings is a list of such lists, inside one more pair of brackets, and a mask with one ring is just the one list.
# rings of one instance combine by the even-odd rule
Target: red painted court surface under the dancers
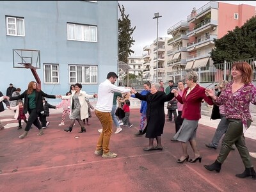
[[[130,119],[131,128],[122,127],[123,131],[111,136],[110,149],[118,154],[114,159],[94,154],[97,129],[101,128],[94,113],[91,125],[86,125],[86,132],[81,134],[77,122],[72,132],[63,131],[68,118],[65,125],[58,126],[61,114],[47,118],[51,123],[43,136],[37,137],[38,130],[34,127],[20,140],[24,129],[3,129],[0,131],[0,191],[255,191],[256,180],[235,176],[244,171],[237,150],[230,152],[220,173],[205,170],[204,164],[213,163],[220,151],[204,146],[211,141],[214,128],[198,127],[202,163],[179,164],[176,160],[182,150],[180,143],[170,141],[175,132],[172,122],[164,125],[163,151],[145,152],[143,147],[147,147],[148,139],[145,135],[134,136],[139,127],[139,109],[131,110]],[[17,120],[4,124],[11,122]],[[246,144],[249,151],[255,151],[255,140],[246,138]],[[193,157],[190,146],[188,151]],[[252,163],[256,167],[256,159]]]

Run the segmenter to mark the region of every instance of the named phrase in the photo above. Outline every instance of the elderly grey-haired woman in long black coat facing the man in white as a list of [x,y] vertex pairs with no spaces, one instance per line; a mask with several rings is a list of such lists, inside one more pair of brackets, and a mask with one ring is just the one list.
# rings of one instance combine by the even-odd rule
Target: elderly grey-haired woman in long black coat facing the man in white
[[[163,150],[161,134],[163,134],[165,122],[164,102],[173,99],[174,94],[169,93],[166,95],[164,92],[160,92],[159,88],[160,85],[158,83],[152,83],[150,93],[147,93],[147,95],[141,95],[132,89],[132,93],[135,93],[136,98],[147,101],[147,125],[143,130],[143,134],[146,132],[149,144],[147,148],[143,148],[145,151]],[[154,138],[157,141],[156,147],[154,147]]]

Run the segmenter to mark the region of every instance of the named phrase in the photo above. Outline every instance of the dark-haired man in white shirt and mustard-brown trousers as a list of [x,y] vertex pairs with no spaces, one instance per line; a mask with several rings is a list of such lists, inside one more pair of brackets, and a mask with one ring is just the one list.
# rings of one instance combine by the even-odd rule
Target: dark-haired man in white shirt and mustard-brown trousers
[[109,141],[112,134],[113,124],[111,110],[113,106],[114,92],[131,92],[130,88],[116,86],[115,82],[117,78],[118,76],[115,72],[109,72],[106,81],[99,84],[98,101],[94,111],[102,124],[102,132],[100,133],[94,154],[97,156],[102,155],[104,158],[114,158],[117,156],[117,154],[109,150]]

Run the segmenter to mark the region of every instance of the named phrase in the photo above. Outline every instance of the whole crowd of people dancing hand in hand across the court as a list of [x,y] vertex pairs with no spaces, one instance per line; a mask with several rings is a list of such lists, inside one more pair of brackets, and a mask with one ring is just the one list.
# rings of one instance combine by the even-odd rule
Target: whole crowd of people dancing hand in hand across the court
[[[104,158],[117,156],[117,154],[109,150],[113,122],[116,126],[115,133],[122,131],[120,124],[132,127],[129,120],[129,97],[141,100],[140,129],[135,135],[142,136],[145,134],[145,137],[148,138],[148,146],[143,148],[143,150],[163,150],[161,135],[163,134],[166,121],[164,103],[168,102],[167,120],[175,122],[175,135],[172,137],[172,141],[179,141],[181,147],[181,156],[177,159],[177,163],[184,163],[186,161],[189,161],[189,163],[202,162],[203,157],[200,155],[200,150],[197,147],[196,132],[198,120],[201,118],[200,106],[202,102],[207,102],[207,104],[214,106],[211,118],[220,118],[221,120],[211,143],[207,143],[205,146],[216,149],[222,136],[223,139],[221,141],[220,154],[216,161],[212,164],[205,164],[205,169],[220,172],[221,166],[225,159],[227,159],[230,150],[237,148],[245,169],[243,173],[236,174],[236,177],[252,177],[256,179],[256,173],[244,138],[244,132],[252,124],[252,116],[249,109],[250,103],[256,104],[256,86],[252,84],[252,67],[246,62],[237,62],[232,65],[231,73],[232,80],[230,82],[220,81],[218,92],[200,86],[197,83],[198,74],[194,71],[188,72],[184,77],[184,81],[179,81],[177,86],[174,85],[173,81],[169,81],[169,86],[165,92],[163,82],[152,84],[146,82],[143,84],[145,90],[141,93],[136,92],[134,88],[115,86],[118,76],[115,72],[109,72],[106,81],[99,84],[98,94],[88,95],[81,90],[82,85],[76,83],[74,87],[70,87],[70,92],[66,95],[48,95],[37,88],[35,81],[31,81],[28,84],[28,89],[20,95],[10,97],[10,95],[4,96],[1,93],[0,101],[4,101],[7,108],[10,108],[8,100],[24,99],[24,103],[19,101],[16,108],[11,109],[16,110],[15,115],[17,116],[18,114],[19,116],[17,117],[19,129],[20,120],[27,121],[25,121],[24,133],[19,136],[20,138],[25,138],[32,124],[39,130],[36,136],[44,134],[42,128],[47,126],[47,121],[46,118],[42,118],[42,115],[49,116],[49,113],[45,112],[44,108],[46,105],[45,97],[62,99],[58,106],[48,105],[48,108],[63,108],[60,125],[65,124],[65,115],[69,114],[70,124],[64,130],[71,132],[77,120],[81,127],[79,133],[86,132],[84,128],[85,120],[90,116],[90,109],[94,108],[90,106],[88,99],[97,97],[94,112],[102,124],[102,129],[98,130],[100,136],[94,153]],[[118,107],[116,100],[118,101]],[[122,117],[120,112],[116,113],[116,111],[121,111],[120,109],[124,111]],[[27,113],[28,120],[26,117]],[[172,115],[174,118],[172,118]],[[122,121],[118,122],[118,118]],[[39,120],[41,120],[42,124]],[[155,139],[156,144],[154,144]],[[188,144],[193,150],[193,155],[190,157],[188,154]]]

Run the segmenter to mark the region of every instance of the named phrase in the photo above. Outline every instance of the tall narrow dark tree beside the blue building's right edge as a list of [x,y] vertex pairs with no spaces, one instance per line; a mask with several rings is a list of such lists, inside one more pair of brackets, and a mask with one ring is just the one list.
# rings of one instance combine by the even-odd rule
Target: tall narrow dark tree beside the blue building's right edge
[[120,19],[118,19],[118,60],[128,62],[128,56],[131,56],[131,53],[134,51],[131,50],[131,47],[135,40],[132,38],[132,33],[136,29],[131,27],[131,20],[129,15],[125,14],[125,8],[118,3],[118,8],[121,13]]

